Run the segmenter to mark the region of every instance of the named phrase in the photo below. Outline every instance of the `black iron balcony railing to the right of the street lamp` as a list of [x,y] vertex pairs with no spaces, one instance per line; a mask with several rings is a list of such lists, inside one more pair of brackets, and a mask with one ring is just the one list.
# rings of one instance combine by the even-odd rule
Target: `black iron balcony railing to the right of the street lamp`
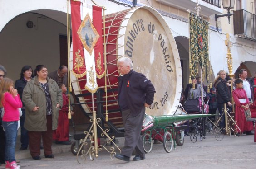
[[256,40],[256,15],[246,10],[234,10],[234,34]]

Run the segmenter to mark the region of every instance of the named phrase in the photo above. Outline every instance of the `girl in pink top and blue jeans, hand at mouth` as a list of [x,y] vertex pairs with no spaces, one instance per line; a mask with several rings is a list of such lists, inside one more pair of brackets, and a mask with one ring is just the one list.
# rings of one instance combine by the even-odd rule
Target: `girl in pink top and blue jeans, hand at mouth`
[[5,169],[20,169],[15,160],[15,143],[17,137],[19,108],[22,107],[20,96],[13,87],[13,80],[4,78],[0,81],[0,107],[5,109],[2,124],[5,130]]

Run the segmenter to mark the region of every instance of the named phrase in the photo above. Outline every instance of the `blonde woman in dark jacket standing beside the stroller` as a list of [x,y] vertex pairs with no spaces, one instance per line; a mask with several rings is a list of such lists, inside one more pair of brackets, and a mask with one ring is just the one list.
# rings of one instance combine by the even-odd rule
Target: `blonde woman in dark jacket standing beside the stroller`
[[[219,113],[222,115],[222,109],[224,108],[224,104],[227,105],[229,110],[231,110],[231,94],[230,89],[226,85],[226,71],[220,70],[216,79],[214,80],[213,86],[216,88],[216,96],[217,96],[217,108]],[[222,121],[220,122],[220,127],[225,126],[225,117],[222,116]]]

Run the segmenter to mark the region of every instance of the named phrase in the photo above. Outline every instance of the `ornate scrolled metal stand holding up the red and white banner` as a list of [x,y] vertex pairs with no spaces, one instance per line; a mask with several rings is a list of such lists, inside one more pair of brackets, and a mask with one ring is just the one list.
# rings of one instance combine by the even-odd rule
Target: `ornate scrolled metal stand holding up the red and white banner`
[[[94,100],[94,95],[92,94],[92,100]],[[90,119],[90,122],[92,122],[92,126],[90,127],[89,131],[84,131],[84,134],[86,135],[84,139],[81,139],[81,144],[79,151],[77,153],[76,159],[79,164],[80,163],[79,159],[86,160],[86,155],[89,154],[90,160],[94,160],[94,157],[98,157],[98,151],[101,151],[102,149],[107,150],[110,153],[110,158],[113,160],[113,156],[116,154],[115,152],[115,147],[120,151],[119,147],[115,144],[113,139],[115,136],[108,136],[107,132],[109,131],[108,129],[103,130],[102,127],[98,124],[100,122],[100,118],[96,118],[96,111],[94,110],[94,102],[93,102],[93,118]],[[107,143],[112,143],[115,147],[110,147],[110,150],[108,150],[105,146],[99,145],[98,146],[98,134],[97,134],[97,127],[102,131],[101,136],[105,136],[108,138]],[[86,142],[87,139],[89,139],[89,143]],[[86,146],[90,144],[89,149],[86,150]],[[80,156],[80,158],[79,158]]]

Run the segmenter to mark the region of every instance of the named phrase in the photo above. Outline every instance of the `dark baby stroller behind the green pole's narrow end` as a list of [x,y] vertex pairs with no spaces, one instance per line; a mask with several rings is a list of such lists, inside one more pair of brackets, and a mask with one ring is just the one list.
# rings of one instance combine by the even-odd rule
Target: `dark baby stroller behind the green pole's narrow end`
[[[209,113],[209,97],[204,98],[204,111],[202,111],[202,103],[201,99],[188,99],[184,103],[184,109],[187,112],[187,114],[208,114]],[[203,118],[197,118],[189,121],[189,130],[191,132],[190,135],[190,140],[194,143],[197,141],[197,136],[200,136],[200,140],[202,141],[203,136],[205,136],[205,131],[204,131],[204,119]],[[211,123],[209,123],[211,124]],[[212,127],[208,126],[207,123],[207,128],[210,130]]]

